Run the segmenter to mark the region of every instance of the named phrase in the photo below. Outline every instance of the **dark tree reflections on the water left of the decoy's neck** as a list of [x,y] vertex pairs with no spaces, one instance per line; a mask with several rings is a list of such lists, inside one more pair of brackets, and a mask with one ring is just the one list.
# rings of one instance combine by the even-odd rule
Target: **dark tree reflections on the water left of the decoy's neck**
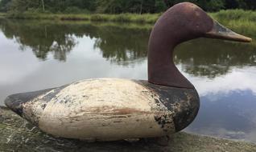
[[10,20],[2,20],[1,26],[6,38],[14,38],[20,44],[20,50],[31,47],[35,56],[43,60],[48,52],[53,52],[54,58],[65,61],[67,53],[76,46],[75,38],[84,35],[96,38],[94,46],[100,48],[103,58],[111,62],[127,65],[135,59],[147,57],[149,30]]

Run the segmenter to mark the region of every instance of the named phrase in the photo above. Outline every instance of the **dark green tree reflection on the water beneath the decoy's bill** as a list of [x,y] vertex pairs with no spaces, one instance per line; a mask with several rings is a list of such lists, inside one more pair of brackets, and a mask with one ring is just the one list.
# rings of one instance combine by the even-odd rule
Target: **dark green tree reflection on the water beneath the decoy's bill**
[[215,78],[227,74],[233,66],[255,66],[254,50],[254,44],[201,38],[179,46],[175,62],[188,74]]

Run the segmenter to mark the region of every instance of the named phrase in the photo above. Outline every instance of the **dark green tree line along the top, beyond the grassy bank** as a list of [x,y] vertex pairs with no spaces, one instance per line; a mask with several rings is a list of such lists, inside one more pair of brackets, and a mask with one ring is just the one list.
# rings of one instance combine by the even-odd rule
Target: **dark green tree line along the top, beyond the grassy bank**
[[255,0],[0,0],[1,12],[159,13],[179,2],[193,2],[206,11],[255,10]]

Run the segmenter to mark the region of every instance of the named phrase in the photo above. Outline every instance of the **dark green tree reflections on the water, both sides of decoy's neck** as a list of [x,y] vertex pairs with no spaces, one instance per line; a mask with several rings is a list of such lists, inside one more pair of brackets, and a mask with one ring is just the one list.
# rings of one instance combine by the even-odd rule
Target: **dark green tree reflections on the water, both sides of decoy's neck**
[[[15,39],[21,50],[30,47],[37,58],[65,61],[76,46],[77,38],[95,38],[94,49],[113,64],[128,66],[147,59],[150,28],[138,25],[102,25],[81,22],[38,22],[1,20],[6,38]],[[239,32],[239,31],[238,31]],[[175,64],[194,76],[216,78],[227,74],[233,66],[255,66],[256,45],[200,38],[185,42],[175,51]]]

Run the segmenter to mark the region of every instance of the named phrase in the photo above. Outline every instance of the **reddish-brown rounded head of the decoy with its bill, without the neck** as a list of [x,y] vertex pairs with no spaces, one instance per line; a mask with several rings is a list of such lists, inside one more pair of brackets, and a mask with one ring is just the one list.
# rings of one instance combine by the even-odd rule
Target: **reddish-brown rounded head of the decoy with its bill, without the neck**
[[[174,29],[162,28],[163,26],[175,27]],[[184,42],[193,38],[219,38],[237,42],[251,42],[241,34],[237,34],[215,21],[199,6],[190,2],[181,2],[167,10],[155,26],[171,31],[175,40]]]

